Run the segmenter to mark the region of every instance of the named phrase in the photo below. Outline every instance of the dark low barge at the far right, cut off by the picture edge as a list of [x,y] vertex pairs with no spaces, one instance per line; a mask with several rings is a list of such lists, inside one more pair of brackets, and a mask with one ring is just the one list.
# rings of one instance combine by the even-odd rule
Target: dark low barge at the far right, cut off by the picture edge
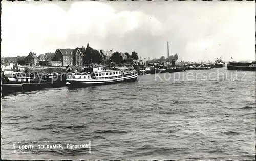
[[254,62],[229,62],[227,65],[228,70],[245,70],[256,71],[256,61]]

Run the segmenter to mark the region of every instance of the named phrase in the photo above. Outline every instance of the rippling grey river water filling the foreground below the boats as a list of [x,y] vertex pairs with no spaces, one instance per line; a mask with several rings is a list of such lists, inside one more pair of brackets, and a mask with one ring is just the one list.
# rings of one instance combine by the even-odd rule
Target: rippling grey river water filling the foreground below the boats
[[[2,159],[255,160],[255,72],[173,74],[5,96]],[[14,152],[32,141],[90,141],[91,150]]]

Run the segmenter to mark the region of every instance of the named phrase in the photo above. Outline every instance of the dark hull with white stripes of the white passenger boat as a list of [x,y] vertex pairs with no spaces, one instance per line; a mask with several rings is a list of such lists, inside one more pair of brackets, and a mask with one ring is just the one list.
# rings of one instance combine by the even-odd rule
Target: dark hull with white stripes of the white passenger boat
[[98,86],[105,84],[115,84],[121,82],[134,82],[138,78],[138,73],[130,76],[117,77],[111,79],[75,79],[69,78],[67,79],[67,86]]

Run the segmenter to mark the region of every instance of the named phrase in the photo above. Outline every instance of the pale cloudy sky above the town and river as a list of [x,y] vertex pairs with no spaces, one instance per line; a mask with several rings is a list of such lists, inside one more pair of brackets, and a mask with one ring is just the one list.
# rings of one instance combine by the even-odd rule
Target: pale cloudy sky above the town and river
[[2,1],[4,57],[89,45],[141,59],[255,60],[251,1]]

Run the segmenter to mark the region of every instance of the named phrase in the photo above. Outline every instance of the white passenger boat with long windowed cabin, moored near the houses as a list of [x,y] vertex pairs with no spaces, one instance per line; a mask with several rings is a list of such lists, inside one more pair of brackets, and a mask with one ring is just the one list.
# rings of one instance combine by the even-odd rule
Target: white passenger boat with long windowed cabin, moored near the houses
[[76,73],[71,78],[66,79],[67,85],[102,85],[119,82],[136,81],[138,73],[134,68],[115,67],[104,69],[103,66],[93,68],[92,72]]

